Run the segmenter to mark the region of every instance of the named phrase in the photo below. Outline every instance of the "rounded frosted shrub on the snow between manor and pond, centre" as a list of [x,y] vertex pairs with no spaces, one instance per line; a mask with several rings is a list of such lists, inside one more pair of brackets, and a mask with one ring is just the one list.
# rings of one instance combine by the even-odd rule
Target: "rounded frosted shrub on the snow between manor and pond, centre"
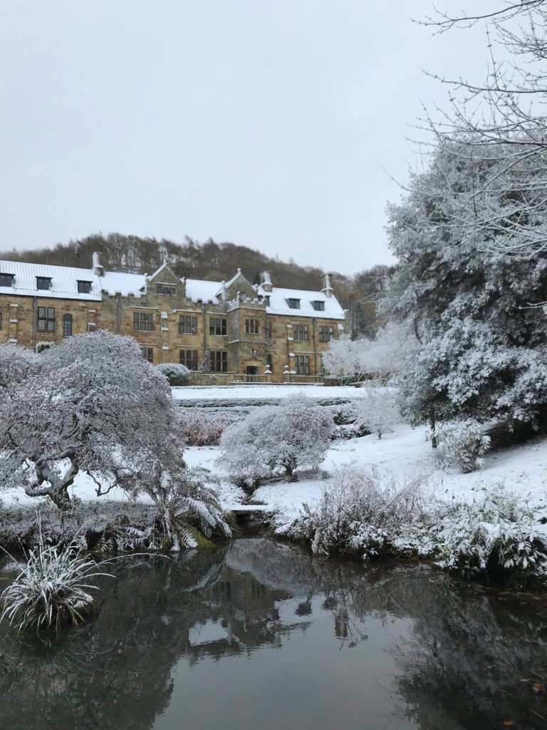
[[219,463],[239,484],[261,481],[295,469],[317,469],[329,447],[333,420],[306,396],[289,396],[264,407],[222,434]]

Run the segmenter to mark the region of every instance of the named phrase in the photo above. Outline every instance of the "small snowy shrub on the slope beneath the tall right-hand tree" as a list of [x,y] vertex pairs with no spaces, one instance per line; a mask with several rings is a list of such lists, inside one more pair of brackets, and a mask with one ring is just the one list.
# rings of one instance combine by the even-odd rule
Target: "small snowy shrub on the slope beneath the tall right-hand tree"
[[480,469],[484,464],[483,456],[490,448],[490,437],[483,433],[476,420],[438,424],[435,437],[435,463],[441,469],[459,464],[464,474]]

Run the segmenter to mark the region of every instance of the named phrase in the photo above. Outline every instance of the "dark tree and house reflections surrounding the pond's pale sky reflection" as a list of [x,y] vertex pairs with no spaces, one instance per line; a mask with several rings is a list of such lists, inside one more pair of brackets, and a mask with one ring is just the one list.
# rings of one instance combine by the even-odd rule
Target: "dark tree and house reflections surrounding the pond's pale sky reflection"
[[[152,729],[168,712],[182,659],[191,668],[284,650],[319,616],[345,661],[369,649],[370,633],[394,662],[381,677],[392,691],[389,717],[367,727],[483,730],[509,719],[516,729],[547,727],[543,607],[500,602],[427,566],[321,560],[270,539],[178,561],[128,558],[115,573],[93,619],[59,639],[19,639],[0,627],[2,729]],[[333,675],[334,692],[340,681]]]

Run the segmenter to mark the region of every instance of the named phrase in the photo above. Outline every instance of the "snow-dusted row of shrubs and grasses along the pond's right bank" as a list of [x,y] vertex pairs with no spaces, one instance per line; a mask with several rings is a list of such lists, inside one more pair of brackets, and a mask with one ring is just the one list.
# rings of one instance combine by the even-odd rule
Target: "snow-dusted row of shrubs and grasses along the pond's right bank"
[[473,504],[438,502],[428,491],[419,477],[401,484],[349,468],[285,533],[324,555],[418,555],[457,575],[519,585],[547,576],[544,510],[500,486],[484,488]]

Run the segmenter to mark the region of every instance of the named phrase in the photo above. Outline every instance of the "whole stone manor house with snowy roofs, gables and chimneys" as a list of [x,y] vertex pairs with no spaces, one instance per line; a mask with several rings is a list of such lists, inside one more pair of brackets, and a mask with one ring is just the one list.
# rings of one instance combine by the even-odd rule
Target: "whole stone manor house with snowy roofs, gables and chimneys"
[[133,335],[153,364],[186,365],[195,383],[319,379],[345,325],[329,274],[321,291],[260,279],[179,279],[166,263],[151,276],[107,272],[97,253],[90,269],[0,261],[0,342],[39,349],[104,328]]

